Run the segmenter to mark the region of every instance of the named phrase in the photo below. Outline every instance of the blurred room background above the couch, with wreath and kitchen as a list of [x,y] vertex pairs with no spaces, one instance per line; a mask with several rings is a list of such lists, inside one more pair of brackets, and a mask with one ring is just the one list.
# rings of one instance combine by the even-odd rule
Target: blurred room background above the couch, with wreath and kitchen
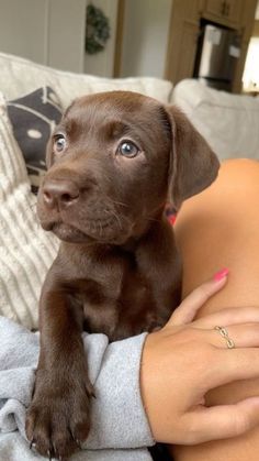
[[0,0],[0,52],[103,77],[259,91],[258,0]]

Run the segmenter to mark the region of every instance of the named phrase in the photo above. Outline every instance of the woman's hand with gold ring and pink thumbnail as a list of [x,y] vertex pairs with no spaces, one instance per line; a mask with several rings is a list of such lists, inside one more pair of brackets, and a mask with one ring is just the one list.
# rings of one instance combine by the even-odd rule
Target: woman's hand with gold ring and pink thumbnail
[[[168,323],[147,336],[140,387],[156,441],[195,444],[241,435],[259,424],[259,397],[205,406],[205,394],[236,380],[259,376],[259,308],[229,308],[193,320],[226,283],[227,272],[192,292]],[[235,349],[215,330],[226,327]]]

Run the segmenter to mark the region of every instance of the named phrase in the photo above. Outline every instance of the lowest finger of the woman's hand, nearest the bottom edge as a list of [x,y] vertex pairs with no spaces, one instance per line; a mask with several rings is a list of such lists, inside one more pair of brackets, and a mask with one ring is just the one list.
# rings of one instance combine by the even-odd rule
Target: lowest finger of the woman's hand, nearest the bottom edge
[[237,437],[259,424],[259,397],[246,398],[235,405],[199,407],[183,418],[187,428],[194,428],[189,431],[190,444]]

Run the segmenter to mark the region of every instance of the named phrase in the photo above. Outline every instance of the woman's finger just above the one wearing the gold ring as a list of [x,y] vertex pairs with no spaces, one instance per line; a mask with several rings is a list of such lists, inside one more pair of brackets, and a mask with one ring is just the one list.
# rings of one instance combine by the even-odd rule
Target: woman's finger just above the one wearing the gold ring
[[227,327],[257,321],[259,321],[259,306],[229,307],[195,320],[193,327],[207,329],[216,325]]

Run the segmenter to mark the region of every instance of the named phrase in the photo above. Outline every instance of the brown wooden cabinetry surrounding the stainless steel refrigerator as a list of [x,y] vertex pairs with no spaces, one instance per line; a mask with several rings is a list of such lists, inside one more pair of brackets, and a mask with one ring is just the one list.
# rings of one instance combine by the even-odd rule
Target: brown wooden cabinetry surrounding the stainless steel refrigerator
[[240,35],[240,57],[233,84],[233,91],[240,92],[256,7],[257,0],[173,0],[165,78],[176,85],[183,78],[193,77],[201,21],[206,20]]

